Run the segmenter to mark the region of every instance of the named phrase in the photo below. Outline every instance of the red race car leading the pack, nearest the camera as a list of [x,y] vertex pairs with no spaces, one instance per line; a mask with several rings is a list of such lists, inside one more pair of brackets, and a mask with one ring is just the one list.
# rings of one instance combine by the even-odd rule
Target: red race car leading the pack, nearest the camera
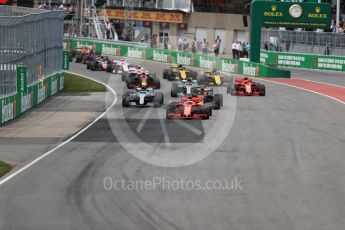
[[183,97],[181,102],[171,102],[166,108],[166,118],[203,119],[211,116],[212,108],[208,105],[199,104],[192,97]]

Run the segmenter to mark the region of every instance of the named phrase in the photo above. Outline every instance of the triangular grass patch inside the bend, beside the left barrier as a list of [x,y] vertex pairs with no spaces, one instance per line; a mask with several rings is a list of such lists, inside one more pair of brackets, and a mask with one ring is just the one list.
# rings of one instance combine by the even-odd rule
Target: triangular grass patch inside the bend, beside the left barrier
[[66,72],[64,73],[64,84],[62,93],[106,92],[107,90],[102,84]]

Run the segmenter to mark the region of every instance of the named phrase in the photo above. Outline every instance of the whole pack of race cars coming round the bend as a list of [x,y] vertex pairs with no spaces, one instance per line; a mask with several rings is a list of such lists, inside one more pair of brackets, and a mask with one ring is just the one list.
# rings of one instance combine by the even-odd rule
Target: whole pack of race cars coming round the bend
[[[77,63],[86,64],[86,68],[91,71],[107,71],[120,75],[129,89],[123,93],[123,107],[159,108],[164,104],[163,93],[155,91],[161,86],[156,73],[150,73],[142,66],[128,63],[125,59],[110,60],[87,47],[76,49],[73,57]],[[251,78],[237,77],[230,82],[217,70],[206,70],[199,75],[182,65],[171,64],[169,69],[163,70],[162,76],[163,79],[174,81],[170,96],[179,98],[166,106],[167,119],[209,119],[213,110],[219,110],[223,106],[223,95],[214,93],[209,86],[226,86],[226,92],[234,96],[266,94],[265,85],[254,82]]]

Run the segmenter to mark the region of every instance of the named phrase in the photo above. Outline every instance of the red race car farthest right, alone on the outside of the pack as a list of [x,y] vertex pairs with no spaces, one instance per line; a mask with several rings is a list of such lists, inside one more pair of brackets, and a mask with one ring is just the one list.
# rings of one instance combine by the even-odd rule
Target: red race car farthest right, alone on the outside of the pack
[[235,83],[228,85],[226,92],[231,95],[244,95],[244,96],[265,96],[265,85],[253,82],[251,78],[236,78]]

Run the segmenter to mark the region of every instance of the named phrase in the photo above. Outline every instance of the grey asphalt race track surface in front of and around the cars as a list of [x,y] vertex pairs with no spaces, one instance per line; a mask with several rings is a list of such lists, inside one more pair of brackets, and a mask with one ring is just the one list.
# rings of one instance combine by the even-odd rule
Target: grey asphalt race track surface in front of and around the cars
[[[166,67],[141,64],[157,73]],[[224,107],[208,121],[166,121],[164,107],[122,109],[124,84],[118,76],[79,64],[71,64],[71,71],[109,84],[118,94],[117,104],[72,142],[0,186],[0,229],[345,226],[344,104],[265,83],[265,97],[224,94]],[[162,80],[166,103],[172,100],[169,89]],[[217,90],[225,93],[225,88]],[[165,187],[110,189],[105,178],[165,180]],[[170,184],[181,180],[192,185],[237,181],[240,186]]]

